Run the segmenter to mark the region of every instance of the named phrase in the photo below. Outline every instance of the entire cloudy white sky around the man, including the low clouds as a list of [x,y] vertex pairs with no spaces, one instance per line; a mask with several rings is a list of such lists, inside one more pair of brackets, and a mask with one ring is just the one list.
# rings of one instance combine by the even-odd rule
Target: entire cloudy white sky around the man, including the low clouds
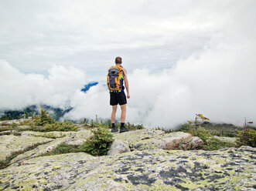
[[255,7],[254,0],[0,0],[0,109],[44,102],[73,106],[67,118],[108,117],[105,87],[87,95],[80,88],[104,83],[121,56],[131,122],[171,126],[197,112],[256,122]]

